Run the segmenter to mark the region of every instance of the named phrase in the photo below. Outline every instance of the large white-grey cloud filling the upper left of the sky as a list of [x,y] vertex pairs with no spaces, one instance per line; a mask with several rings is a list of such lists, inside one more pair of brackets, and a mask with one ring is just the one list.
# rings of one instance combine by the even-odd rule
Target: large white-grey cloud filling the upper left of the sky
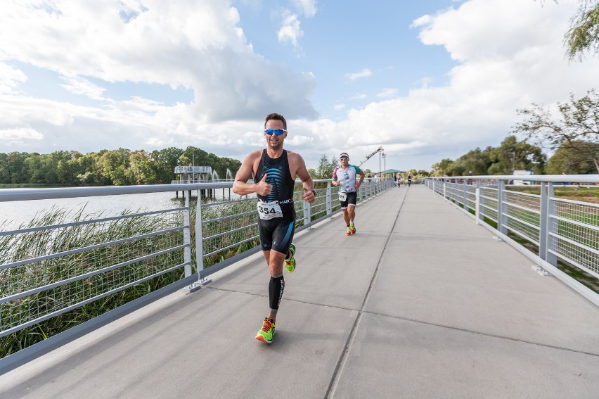
[[0,42],[0,61],[56,72],[65,89],[93,99],[108,96],[102,82],[186,87],[194,120],[255,118],[281,103],[288,115],[316,116],[314,76],[253,53],[238,23],[221,0],[13,0],[0,13],[0,37],[11,37]]

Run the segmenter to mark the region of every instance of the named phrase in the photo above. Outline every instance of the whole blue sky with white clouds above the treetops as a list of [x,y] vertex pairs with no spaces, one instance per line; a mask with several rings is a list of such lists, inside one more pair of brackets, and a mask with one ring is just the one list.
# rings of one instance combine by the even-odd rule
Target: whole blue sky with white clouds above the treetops
[[[264,116],[308,167],[382,146],[430,170],[498,146],[532,102],[596,88],[576,0],[8,0],[0,152],[196,146],[243,160]],[[378,157],[363,167],[378,170]]]

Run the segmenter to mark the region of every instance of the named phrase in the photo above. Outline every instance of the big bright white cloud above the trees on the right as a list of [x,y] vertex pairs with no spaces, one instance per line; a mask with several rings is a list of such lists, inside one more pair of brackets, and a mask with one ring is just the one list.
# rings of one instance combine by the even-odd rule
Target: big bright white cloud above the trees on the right
[[596,84],[596,59],[565,58],[563,33],[576,6],[470,0],[420,18],[414,26],[423,42],[444,46],[459,61],[448,84],[423,79],[407,96],[349,110],[335,130],[363,154],[383,146],[387,165],[405,168],[430,169],[477,146],[498,146],[517,122],[517,108],[567,101],[570,92],[581,96]]

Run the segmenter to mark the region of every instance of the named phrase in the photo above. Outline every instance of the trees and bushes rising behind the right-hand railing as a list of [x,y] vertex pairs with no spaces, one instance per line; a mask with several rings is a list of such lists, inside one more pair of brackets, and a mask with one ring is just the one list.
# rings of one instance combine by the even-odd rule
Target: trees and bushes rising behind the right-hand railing
[[[532,170],[535,175],[591,175],[599,173],[599,94],[594,89],[567,103],[557,104],[558,113],[532,103],[519,109],[522,122],[498,147],[476,148],[457,160],[444,159],[432,165],[435,176],[511,175],[514,170]],[[515,134],[524,139],[518,141]],[[552,153],[548,158],[543,149]]]

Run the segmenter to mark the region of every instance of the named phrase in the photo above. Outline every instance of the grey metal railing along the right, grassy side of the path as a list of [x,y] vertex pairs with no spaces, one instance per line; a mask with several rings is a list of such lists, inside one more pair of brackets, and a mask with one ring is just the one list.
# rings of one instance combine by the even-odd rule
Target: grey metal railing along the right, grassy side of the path
[[508,184],[515,179],[512,175],[431,177],[425,184],[534,260],[539,272],[553,274],[599,305],[598,293],[561,270],[568,265],[599,279],[599,204],[555,196],[558,187],[573,185],[599,191],[599,175],[518,178],[526,179],[524,187],[538,188],[539,194]]

